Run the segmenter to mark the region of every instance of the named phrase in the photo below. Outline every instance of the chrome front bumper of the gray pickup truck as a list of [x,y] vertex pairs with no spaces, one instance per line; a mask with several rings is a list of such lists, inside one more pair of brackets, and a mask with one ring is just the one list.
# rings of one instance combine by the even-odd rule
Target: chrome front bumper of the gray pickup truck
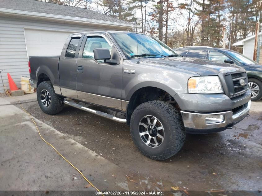
[[[197,113],[181,111],[184,126],[187,133],[215,133],[224,131],[227,128],[232,128],[234,124],[237,124],[243,120],[247,115],[251,107],[251,101],[248,101],[243,105],[240,110],[235,112],[224,111],[216,113]],[[206,123],[206,117],[214,115],[223,115],[224,121],[217,123]]]

